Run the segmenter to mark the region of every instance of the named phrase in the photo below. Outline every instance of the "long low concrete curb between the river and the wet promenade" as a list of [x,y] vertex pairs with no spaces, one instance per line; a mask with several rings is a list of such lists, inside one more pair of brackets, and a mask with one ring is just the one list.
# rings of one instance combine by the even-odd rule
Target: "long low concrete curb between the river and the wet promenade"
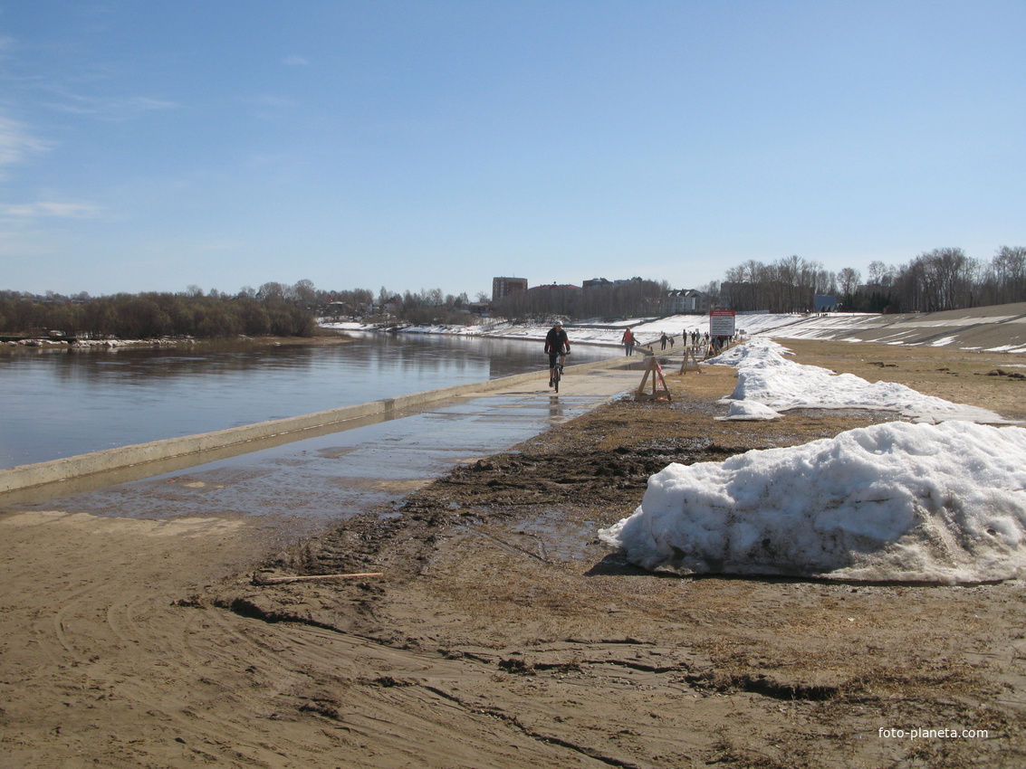
[[[627,359],[613,358],[594,363],[583,363],[567,366],[573,371],[589,369],[618,368],[625,365]],[[167,438],[161,441],[140,443],[131,446],[93,451],[88,454],[51,459],[35,464],[21,464],[15,468],[0,470],[0,493],[19,489],[43,486],[45,484],[69,481],[100,473],[131,468],[148,462],[159,462],[177,456],[202,454],[230,446],[255,443],[277,436],[295,434],[294,440],[302,440],[305,431],[328,426],[346,429],[346,422],[353,427],[365,423],[361,420],[368,417],[398,416],[404,412],[412,413],[424,406],[442,401],[451,401],[461,397],[487,395],[497,390],[506,390],[527,382],[542,379],[548,371],[531,371],[525,374],[503,376],[487,381],[456,385],[450,388],[428,390],[422,393],[411,393],[396,398],[386,398],[380,401],[360,403],[354,406],[341,406],[326,411],[316,411],[312,414],[289,416],[283,419],[245,424],[239,428],[219,430],[213,433]],[[254,445],[253,449],[260,448]],[[242,452],[240,452],[242,453]],[[197,462],[198,463],[198,462]]]

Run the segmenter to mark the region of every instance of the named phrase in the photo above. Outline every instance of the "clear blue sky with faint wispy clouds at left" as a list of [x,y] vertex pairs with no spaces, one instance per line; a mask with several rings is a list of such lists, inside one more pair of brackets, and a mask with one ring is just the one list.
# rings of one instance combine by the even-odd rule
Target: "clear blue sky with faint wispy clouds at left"
[[1026,245],[1022,0],[0,0],[0,288]]

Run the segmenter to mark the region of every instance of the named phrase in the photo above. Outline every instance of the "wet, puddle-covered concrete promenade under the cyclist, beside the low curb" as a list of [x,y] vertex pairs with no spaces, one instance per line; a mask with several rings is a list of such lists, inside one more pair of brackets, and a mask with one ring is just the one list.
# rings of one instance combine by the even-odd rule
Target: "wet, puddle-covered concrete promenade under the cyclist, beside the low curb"
[[193,467],[152,471],[159,475],[140,466],[143,475],[128,482],[85,477],[0,494],[0,510],[157,520],[259,518],[262,527],[288,541],[361,512],[388,511],[457,464],[508,450],[630,391],[640,375],[631,368],[567,367],[558,396],[544,374],[527,382],[515,377],[494,393],[354,429],[310,431],[311,437],[286,443],[254,441],[245,453],[225,458],[200,454]]

